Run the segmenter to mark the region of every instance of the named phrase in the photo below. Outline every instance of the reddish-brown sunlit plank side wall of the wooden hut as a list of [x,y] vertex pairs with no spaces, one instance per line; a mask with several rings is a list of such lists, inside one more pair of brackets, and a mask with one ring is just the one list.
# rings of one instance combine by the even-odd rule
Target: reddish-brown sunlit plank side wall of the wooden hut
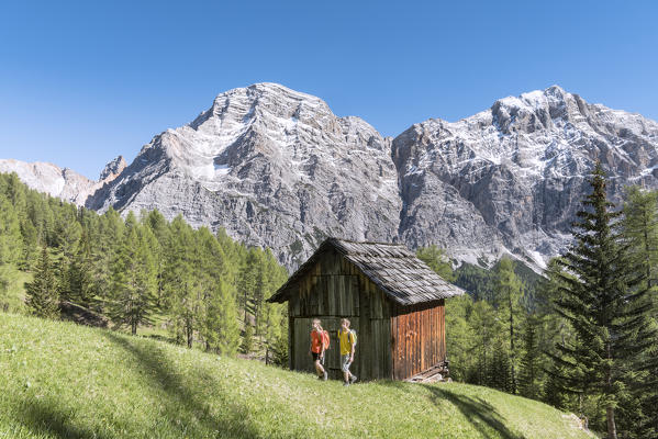
[[445,301],[393,305],[393,379],[405,380],[445,361]]

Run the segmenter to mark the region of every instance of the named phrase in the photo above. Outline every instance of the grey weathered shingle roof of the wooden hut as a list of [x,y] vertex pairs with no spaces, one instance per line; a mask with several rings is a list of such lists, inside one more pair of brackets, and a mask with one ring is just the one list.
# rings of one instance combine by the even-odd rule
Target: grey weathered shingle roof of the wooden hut
[[337,250],[358,267],[390,299],[401,305],[413,305],[465,293],[459,286],[445,281],[401,244],[356,243],[328,238],[268,301],[286,302],[289,286],[328,249]]

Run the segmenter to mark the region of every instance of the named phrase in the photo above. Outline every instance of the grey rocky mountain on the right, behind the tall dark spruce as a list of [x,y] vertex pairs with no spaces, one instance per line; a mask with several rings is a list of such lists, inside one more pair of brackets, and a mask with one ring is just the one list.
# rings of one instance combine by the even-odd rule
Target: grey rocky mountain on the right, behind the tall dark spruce
[[540,266],[569,243],[596,160],[615,201],[624,185],[658,187],[658,124],[550,87],[413,125],[393,140],[393,160],[411,247],[470,261],[511,251]]

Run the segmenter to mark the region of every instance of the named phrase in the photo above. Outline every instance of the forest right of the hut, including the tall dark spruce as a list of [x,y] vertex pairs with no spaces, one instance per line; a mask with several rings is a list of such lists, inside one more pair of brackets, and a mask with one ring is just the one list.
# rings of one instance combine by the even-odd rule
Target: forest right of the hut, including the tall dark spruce
[[598,167],[572,226],[575,243],[543,277],[503,258],[453,271],[444,252],[417,255],[469,291],[446,301],[454,380],[579,414],[607,438],[658,437],[658,191],[607,199]]

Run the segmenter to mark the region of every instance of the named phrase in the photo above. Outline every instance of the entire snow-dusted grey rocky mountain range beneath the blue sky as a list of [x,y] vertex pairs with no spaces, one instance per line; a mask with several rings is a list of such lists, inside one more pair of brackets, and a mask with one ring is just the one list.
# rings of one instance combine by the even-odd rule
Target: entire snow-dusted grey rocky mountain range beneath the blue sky
[[225,227],[291,269],[330,235],[436,244],[480,264],[510,252],[539,268],[568,245],[596,160],[616,201],[627,184],[658,188],[658,123],[554,86],[384,138],[319,98],[257,83],[221,93],[99,181],[15,160],[0,171],[99,212],[158,209]]

